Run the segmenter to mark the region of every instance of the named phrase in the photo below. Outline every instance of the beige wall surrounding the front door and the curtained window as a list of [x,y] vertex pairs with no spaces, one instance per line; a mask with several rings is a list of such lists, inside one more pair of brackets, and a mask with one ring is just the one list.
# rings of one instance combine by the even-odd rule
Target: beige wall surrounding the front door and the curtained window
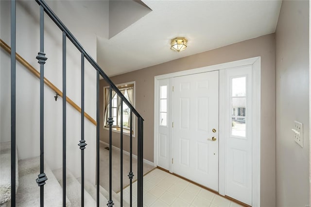
[[[169,46],[168,46],[168,50]],[[211,66],[261,56],[261,172],[260,203],[275,206],[275,35],[264,35],[215,50],[187,56],[167,63],[112,77],[115,84],[136,81],[136,108],[144,121],[144,158],[154,160],[154,77],[181,70]],[[103,94],[104,81],[101,81]],[[101,104],[103,103],[103,97]],[[103,110],[103,109],[102,109]],[[103,111],[101,111],[101,117]],[[101,118],[101,122],[103,118]],[[103,123],[103,122],[102,122]],[[102,127],[101,127],[102,128]],[[120,146],[120,134],[113,144]],[[101,130],[101,140],[108,142],[108,131]],[[137,143],[137,139],[134,140]],[[124,138],[128,145],[128,138]],[[128,149],[125,147],[125,149]],[[134,150],[136,152],[136,149]]]

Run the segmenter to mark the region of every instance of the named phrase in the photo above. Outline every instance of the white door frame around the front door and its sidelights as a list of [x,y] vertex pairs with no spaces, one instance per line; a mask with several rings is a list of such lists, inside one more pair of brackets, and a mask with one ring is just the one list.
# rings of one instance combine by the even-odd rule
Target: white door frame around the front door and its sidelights
[[[157,166],[158,153],[158,110],[159,105],[156,101],[158,94],[158,81],[177,76],[191,75],[195,73],[209,72],[219,70],[219,194],[225,195],[225,69],[240,68],[243,66],[252,66],[253,68],[253,88],[252,88],[252,114],[253,114],[253,130],[252,130],[252,206],[260,206],[260,56],[233,62],[207,66],[197,69],[189,69],[169,74],[155,76],[155,101],[154,101],[154,164]],[[171,81],[170,81],[170,84]],[[172,91],[172,90],[169,90]],[[172,94],[172,93],[170,93]],[[171,105],[172,103],[170,103]],[[169,121],[172,121],[168,119]],[[170,127],[170,141],[172,144],[172,127]],[[169,146],[171,149],[171,147]],[[169,160],[172,159],[172,153],[169,153]],[[169,165],[169,171],[172,172],[172,164]]]

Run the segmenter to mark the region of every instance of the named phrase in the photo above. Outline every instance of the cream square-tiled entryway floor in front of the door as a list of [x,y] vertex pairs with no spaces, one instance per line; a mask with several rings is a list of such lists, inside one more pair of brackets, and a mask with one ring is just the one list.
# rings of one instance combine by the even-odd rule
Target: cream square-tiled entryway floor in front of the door
[[[146,174],[143,182],[144,207],[240,207],[215,193],[159,169]],[[127,187],[123,190],[123,199],[128,203],[129,189],[130,187]],[[133,202],[133,207],[136,207],[137,182],[133,183]]]

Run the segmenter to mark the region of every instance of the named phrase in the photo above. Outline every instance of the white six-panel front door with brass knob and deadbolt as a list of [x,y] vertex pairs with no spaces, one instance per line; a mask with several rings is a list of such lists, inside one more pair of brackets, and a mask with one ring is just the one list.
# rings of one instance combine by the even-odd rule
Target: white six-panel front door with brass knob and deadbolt
[[218,191],[219,71],[174,77],[173,86],[173,173]]

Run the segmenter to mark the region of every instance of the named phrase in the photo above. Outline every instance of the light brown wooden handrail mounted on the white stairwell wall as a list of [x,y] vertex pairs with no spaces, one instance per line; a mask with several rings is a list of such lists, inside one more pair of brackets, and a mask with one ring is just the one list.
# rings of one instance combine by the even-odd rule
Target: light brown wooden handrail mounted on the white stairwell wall
[[[0,46],[1,48],[3,48],[6,52],[11,54],[11,48],[10,46],[8,46],[2,39],[0,39]],[[40,78],[40,72],[38,72],[32,65],[30,65],[24,58],[22,58],[18,53],[16,53],[16,60],[22,64],[25,68],[27,68],[29,71],[31,71],[35,76],[37,76],[38,78]],[[53,91],[55,91],[56,93],[59,94],[60,97],[63,97],[63,92],[58,89],[56,86],[54,86],[48,79],[44,78],[44,83],[49,86]],[[79,111],[81,113],[81,108],[75,104],[71,99],[68,98],[68,96],[66,97],[66,101],[72,105],[77,111]],[[88,119],[89,121],[91,121],[94,125],[96,125],[96,121],[90,117],[86,112],[84,112],[84,116],[86,117],[86,119]]]

